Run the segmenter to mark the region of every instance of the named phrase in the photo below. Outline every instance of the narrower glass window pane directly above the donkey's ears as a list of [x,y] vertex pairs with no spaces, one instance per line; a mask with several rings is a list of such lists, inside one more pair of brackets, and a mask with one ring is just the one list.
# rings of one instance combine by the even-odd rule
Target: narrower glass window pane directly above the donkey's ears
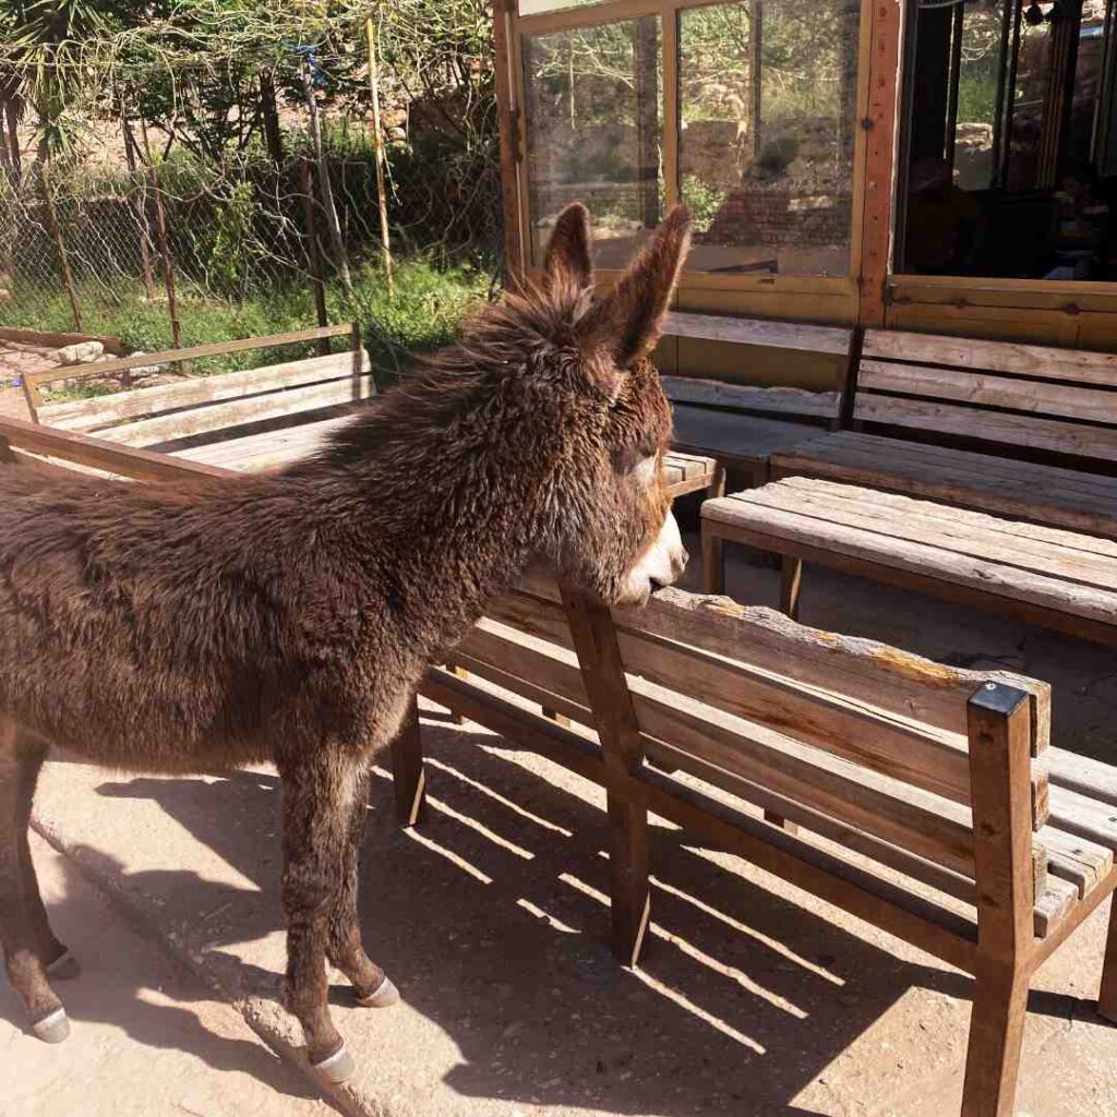
[[562,208],[593,214],[599,267],[623,267],[662,210],[658,17],[524,36],[532,260]]

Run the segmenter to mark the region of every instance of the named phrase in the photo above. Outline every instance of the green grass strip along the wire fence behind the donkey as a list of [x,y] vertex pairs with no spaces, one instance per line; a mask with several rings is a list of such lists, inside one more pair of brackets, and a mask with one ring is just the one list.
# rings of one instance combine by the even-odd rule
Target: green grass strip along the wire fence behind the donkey
[[[395,292],[389,296],[383,274],[369,266],[354,277],[352,299],[336,283],[327,286],[326,308],[331,322],[356,319],[379,372],[395,378],[405,371],[411,353],[429,352],[454,340],[469,307],[486,296],[489,276],[484,268],[464,264],[439,268],[429,260],[401,261],[395,269]],[[22,326],[47,332],[74,328],[69,299],[63,290],[25,290],[0,303],[0,326]],[[120,336],[126,352],[153,353],[173,347],[166,300],[147,300],[139,284],[86,281],[78,288],[83,330],[90,334]],[[308,285],[260,292],[239,303],[191,296],[179,298],[182,344],[236,341],[287,333],[316,324],[314,298]],[[274,364],[313,354],[313,345],[250,350],[195,362],[194,373],[212,375]],[[59,399],[103,394],[104,384],[70,384]]]

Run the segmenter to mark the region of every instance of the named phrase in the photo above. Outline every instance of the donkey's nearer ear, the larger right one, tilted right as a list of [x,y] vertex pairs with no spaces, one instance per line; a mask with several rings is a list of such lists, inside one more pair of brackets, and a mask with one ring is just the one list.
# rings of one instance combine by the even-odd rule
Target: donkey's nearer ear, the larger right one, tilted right
[[676,206],[667,214],[620,283],[582,318],[584,350],[607,349],[623,366],[655,346],[690,248],[690,225],[689,206]]

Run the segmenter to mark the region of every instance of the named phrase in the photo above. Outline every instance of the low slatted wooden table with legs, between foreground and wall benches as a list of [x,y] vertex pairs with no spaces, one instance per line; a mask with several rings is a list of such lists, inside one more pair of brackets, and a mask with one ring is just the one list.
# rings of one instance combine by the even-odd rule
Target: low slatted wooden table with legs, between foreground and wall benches
[[707,592],[722,592],[726,540],[782,557],[781,608],[792,617],[802,564],[813,562],[1117,642],[1111,540],[804,477],[703,505]]

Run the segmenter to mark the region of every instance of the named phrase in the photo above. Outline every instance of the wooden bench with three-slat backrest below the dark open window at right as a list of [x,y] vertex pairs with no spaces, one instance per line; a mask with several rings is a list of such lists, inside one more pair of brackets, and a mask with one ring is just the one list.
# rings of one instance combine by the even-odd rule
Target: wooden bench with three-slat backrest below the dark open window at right
[[1117,538],[1117,356],[869,330],[855,429],[781,448],[812,476]]

